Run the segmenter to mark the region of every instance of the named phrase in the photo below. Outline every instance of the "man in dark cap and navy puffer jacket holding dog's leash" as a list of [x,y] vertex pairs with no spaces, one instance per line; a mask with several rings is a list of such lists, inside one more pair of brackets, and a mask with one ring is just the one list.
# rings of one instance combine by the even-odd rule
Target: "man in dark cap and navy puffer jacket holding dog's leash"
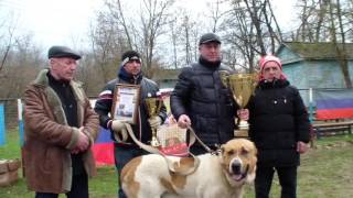
[[[229,89],[222,82],[221,74],[232,69],[221,64],[221,38],[206,33],[199,42],[199,62],[184,67],[171,95],[171,111],[180,128],[192,127],[201,141],[211,150],[234,138],[234,118],[247,120],[248,111],[239,110]],[[238,112],[238,113],[237,113]],[[191,153],[206,150],[200,143]]]

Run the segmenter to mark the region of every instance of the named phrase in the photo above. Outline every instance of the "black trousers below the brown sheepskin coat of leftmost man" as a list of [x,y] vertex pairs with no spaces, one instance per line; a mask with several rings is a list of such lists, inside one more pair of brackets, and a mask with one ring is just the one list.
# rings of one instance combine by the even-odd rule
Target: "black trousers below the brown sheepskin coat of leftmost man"
[[[57,198],[58,194],[50,193],[35,193],[35,198]],[[83,173],[81,175],[73,176],[73,183],[71,191],[66,193],[67,198],[88,198],[88,178],[87,174]]]

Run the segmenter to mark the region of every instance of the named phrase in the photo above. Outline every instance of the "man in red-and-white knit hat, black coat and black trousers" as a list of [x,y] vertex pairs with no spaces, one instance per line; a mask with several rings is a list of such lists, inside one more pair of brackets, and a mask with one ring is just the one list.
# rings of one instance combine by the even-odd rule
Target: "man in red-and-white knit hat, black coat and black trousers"
[[281,61],[260,59],[260,76],[248,103],[249,136],[258,150],[256,198],[267,198],[277,172],[281,197],[297,197],[299,155],[307,151],[309,118],[298,89],[282,74]]

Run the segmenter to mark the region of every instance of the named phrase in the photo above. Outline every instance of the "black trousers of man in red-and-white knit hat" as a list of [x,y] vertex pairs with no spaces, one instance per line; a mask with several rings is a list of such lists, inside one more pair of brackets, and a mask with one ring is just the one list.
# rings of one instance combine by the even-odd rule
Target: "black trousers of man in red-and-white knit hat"
[[258,166],[255,178],[256,198],[268,198],[275,169],[281,186],[281,198],[297,197],[297,166],[264,167]]

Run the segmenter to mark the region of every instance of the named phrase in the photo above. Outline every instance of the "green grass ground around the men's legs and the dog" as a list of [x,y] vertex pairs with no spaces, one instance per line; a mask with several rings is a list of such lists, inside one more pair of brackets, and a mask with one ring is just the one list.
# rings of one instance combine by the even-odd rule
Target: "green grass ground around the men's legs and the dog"
[[[0,158],[21,158],[18,131],[9,131],[7,144],[0,146]],[[9,187],[0,187],[1,198],[33,198],[26,190],[24,178]],[[99,167],[97,177],[89,180],[92,198],[116,198],[115,167]],[[353,135],[322,138],[301,157],[298,172],[298,198],[349,198],[353,195]],[[63,198],[65,196],[61,196]],[[246,186],[245,198],[253,198],[254,186]],[[270,197],[280,197],[275,178]]]

